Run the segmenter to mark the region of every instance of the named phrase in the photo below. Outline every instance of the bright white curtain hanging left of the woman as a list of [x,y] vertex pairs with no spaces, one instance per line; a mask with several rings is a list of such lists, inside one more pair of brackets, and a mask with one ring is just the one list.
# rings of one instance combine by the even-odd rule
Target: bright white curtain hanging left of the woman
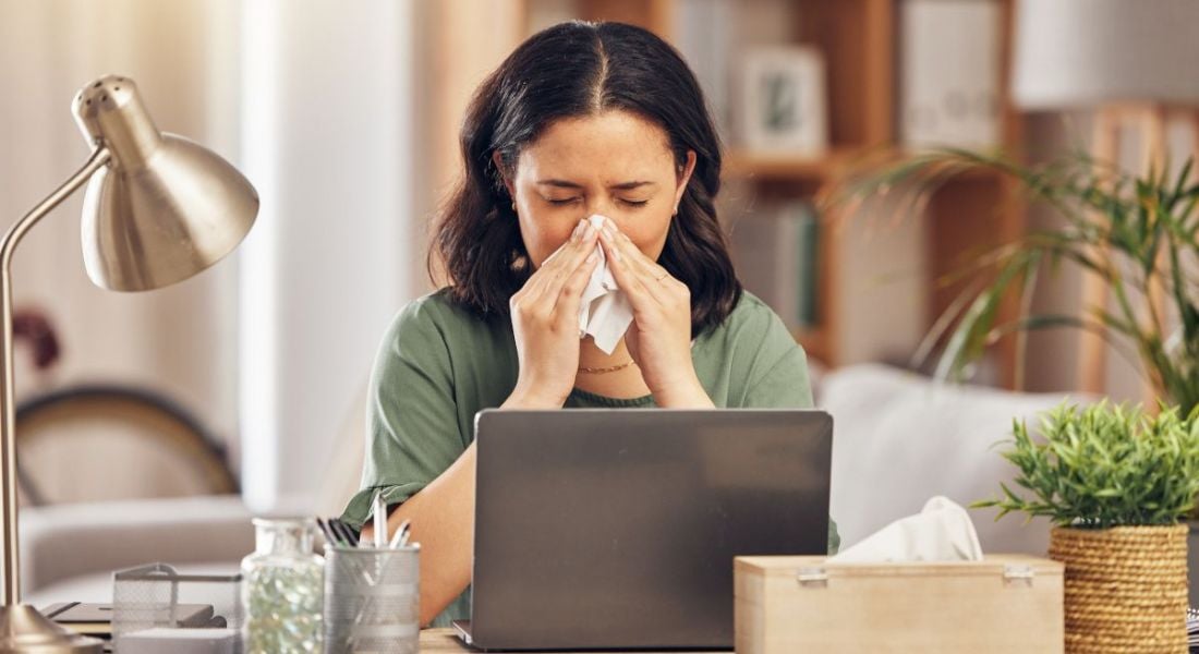
[[[308,512],[347,439],[410,263],[412,4],[259,0],[242,11],[242,151],[263,197],[241,252],[242,479]],[[348,499],[348,498],[347,498]],[[324,503],[323,503],[324,504]]]

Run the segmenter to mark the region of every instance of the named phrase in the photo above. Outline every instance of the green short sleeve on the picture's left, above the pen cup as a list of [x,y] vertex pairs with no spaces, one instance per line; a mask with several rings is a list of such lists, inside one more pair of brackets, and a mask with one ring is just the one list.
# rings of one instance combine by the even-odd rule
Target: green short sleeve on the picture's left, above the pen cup
[[366,424],[361,490],[342,514],[354,528],[370,517],[376,491],[388,506],[400,504],[466,449],[450,352],[432,302],[409,304],[384,336],[370,373]]

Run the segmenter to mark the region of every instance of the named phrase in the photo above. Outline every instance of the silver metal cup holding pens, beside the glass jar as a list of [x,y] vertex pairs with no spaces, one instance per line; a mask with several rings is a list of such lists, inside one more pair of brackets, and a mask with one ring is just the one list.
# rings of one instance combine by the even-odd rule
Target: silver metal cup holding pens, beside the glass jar
[[420,552],[325,546],[325,652],[418,653]]

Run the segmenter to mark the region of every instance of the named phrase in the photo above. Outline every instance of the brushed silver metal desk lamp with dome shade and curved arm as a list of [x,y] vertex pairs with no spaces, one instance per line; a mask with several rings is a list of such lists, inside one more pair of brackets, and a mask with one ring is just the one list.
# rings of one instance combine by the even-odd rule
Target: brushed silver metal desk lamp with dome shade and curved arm
[[107,76],[72,103],[91,144],[83,168],[18,221],[0,241],[0,469],[2,469],[4,606],[0,653],[101,652],[101,641],[72,634],[20,604],[17,540],[17,446],[12,371],[12,253],[25,233],[88,182],[83,259],[91,281],[110,290],[147,290],[218,262],[249,232],[258,193],[209,150],[162,133],[133,80]]

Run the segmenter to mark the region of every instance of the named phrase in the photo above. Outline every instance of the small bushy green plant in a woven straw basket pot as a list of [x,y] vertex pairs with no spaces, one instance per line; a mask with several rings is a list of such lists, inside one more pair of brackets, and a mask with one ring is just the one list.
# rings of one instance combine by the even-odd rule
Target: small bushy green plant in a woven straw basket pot
[[1066,652],[1186,652],[1187,527],[1199,493],[1199,412],[1059,406],[1040,437],[1013,425],[1019,490],[974,504],[1046,516],[1066,565]]

